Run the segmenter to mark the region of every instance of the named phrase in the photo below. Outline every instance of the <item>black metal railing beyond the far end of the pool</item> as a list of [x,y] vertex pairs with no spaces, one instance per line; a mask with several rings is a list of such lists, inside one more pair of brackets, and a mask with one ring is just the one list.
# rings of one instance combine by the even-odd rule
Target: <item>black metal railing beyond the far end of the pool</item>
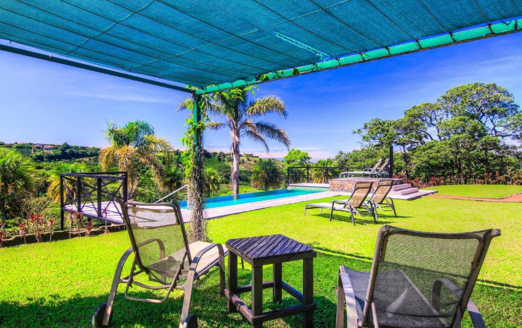
[[[349,166],[295,166],[287,168],[287,185],[299,183],[327,184],[330,179],[339,178],[343,172],[371,170],[371,167]],[[389,176],[389,167],[384,174]],[[357,175],[357,174],[352,174]]]

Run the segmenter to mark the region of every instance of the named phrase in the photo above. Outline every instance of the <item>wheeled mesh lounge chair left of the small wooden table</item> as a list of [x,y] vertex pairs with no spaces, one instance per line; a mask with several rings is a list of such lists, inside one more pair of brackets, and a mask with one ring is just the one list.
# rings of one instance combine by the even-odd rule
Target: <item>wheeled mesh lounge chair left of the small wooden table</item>
[[[167,300],[174,288],[184,290],[180,327],[197,326],[196,316],[188,313],[194,280],[206,274],[213,266],[218,266],[221,295],[224,295],[224,257],[228,252],[223,252],[221,244],[203,241],[189,244],[180,205],[175,201],[156,204],[127,202],[122,206],[122,210],[132,247],[118,262],[109,300],[94,312],[92,326],[109,325],[119,284],[126,285],[127,299],[152,303]],[[131,273],[122,278],[123,266],[133,252]],[[148,275],[149,281],[159,285],[149,286],[135,281],[135,277],[141,273]],[[185,277],[185,284],[180,285],[180,280],[184,280]],[[133,297],[128,294],[131,285],[152,290],[167,289],[167,293],[161,299]]]

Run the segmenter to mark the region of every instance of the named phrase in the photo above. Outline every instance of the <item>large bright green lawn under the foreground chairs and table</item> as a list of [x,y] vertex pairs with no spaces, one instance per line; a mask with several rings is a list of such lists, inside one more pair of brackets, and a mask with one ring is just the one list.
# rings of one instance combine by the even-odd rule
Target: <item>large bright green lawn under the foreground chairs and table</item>
[[[492,187],[492,186],[489,186]],[[329,199],[325,199],[329,200]],[[318,308],[316,326],[334,326],[336,278],[339,265],[370,270],[376,233],[382,224],[433,232],[459,232],[500,228],[474,288],[472,299],[487,326],[522,326],[522,204],[470,202],[454,199],[421,198],[397,201],[399,217],[381,215],[379,224],[359,218],[353,226],[347,215],[320,215],[310,210],[303,216],[303,203],[246,212],[209,221],[210,238],[224,243],[229,238],[281,233],[312,245],[314,295]],[[0,249],[0,326],[88,326],[93,311],[106,301],[112,275],[121,254],[129,247],[126,232],[97,237],[53,241]],[[301,263],[283,265],[283,280],[301,289]],[[251,271],[239,269],[240,284],[250,283]],[[271,268],[264,270],[271,280]],[[201,326],[249,326],[239,313],[228,314],[226,301],[219,296],[216,269],[204,277],[193,294],[191,312]],[[113,324],[115,326],[177,326],[182,306],[181,291],[174,291],[162,305],[135,302],[118,289]],[[140,296],[162,292],[131,293]],[[242,294],[250,305],[250,294]],[[272,305],[271,291],[264,290],[265,311]],[[283,306],[295,301],[283,293]],[[300,315],[276,320],[270,326],[301,326]],[[464,326],[470,325],[466,314]]]

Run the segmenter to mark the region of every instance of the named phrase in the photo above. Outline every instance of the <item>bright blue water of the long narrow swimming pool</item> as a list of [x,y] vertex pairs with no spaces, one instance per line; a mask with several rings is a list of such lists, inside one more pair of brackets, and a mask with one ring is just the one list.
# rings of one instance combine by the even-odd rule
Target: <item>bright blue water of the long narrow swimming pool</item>
[[[221,206],[238,205],[245,203],[258,202],[262,200],[286,198],[292,196],[307,195],[309,193],[321,192],[324,190],[296,190],[296,189],[280,189],[261,192],[242,193],[237,199],[232,196],[219,196],[207,198],[207,209],[217,208]],[[186,208],[186,201],[180,202],[182,208]]]

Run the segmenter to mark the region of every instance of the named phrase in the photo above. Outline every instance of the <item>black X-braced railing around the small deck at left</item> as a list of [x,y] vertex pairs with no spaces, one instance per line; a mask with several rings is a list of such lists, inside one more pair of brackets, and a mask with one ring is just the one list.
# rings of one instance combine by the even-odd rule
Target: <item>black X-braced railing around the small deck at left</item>
[[[89,172],[60,174],[60,226],[64,229],[64,211],[74,208],[82,212],[86,205],[93,213],[84,213],[91,218],[102,218],[111,203],[118,209],[116,200],[127,201],[127,172]],[[105,202],[105,207],[102,203]],[[73,206],[70,206],[73,205]]]

